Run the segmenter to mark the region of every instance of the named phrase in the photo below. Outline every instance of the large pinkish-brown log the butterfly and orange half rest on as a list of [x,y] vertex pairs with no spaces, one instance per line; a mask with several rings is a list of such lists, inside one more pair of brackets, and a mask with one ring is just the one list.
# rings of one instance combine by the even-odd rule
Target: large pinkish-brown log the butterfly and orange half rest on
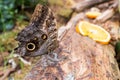
[[76,33],[75,25],[83,14],[73,17],[64,28],[58,57],[66,59],[43,67],[46,55],[36,63],[24,80],[119,80],[120,71],[111,44],[102,45]]

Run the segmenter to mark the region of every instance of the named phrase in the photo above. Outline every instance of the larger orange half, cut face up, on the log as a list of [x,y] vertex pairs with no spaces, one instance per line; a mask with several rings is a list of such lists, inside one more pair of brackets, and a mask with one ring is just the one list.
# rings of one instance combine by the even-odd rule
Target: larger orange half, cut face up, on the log
[[105,29],[86,21],[81,21],[78,23],[76,26],[76,32],[84,36],[88,36],[102,44],[108,44],[111,39],[110,34]]

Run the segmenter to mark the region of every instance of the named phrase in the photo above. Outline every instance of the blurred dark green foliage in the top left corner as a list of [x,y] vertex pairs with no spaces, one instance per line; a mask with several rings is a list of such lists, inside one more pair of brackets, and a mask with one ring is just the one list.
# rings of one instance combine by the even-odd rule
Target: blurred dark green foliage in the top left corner
[[24,13],[25,8],[35,7],[37,3],[46,4],[47,0],[0,0],[0,30],[10,30],[13,28],[16,19],[23,20],[26,18],[20,11]]

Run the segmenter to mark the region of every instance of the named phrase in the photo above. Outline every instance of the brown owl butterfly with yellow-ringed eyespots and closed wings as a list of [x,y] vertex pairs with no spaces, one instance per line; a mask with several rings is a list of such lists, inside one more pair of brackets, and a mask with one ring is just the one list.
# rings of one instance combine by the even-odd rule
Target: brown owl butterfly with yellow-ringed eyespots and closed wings
[[21,56],[39,56],[58,46],[55,17],[47,6],[38,4],[28,26],[18,33],[15,53]]

